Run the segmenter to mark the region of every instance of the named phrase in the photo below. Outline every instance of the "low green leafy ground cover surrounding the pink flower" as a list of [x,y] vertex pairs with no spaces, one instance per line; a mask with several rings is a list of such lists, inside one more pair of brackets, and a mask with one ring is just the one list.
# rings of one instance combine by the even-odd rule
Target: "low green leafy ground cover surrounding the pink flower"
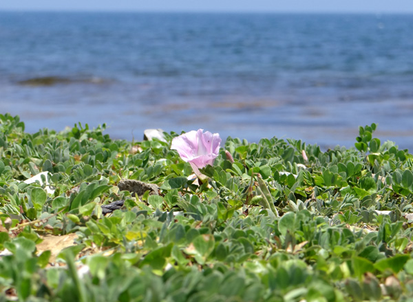
[[202,183],[176,133],[0,115],[0,301],[409,301],[413,159],[375,128],[326,151],[229,138]]

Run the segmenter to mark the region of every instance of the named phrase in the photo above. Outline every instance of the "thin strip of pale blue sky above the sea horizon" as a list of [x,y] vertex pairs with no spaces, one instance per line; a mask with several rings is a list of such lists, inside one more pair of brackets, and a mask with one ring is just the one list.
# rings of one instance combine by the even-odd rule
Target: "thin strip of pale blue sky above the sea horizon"
[[413,0],[0,0],[0,10],[413,13]]

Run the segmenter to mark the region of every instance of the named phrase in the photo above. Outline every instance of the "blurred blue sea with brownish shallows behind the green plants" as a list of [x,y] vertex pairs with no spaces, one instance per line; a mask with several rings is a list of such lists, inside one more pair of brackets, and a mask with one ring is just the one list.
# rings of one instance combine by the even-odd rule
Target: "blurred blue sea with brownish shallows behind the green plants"
[[413,150],[413,15],[0,12],[0,113]]

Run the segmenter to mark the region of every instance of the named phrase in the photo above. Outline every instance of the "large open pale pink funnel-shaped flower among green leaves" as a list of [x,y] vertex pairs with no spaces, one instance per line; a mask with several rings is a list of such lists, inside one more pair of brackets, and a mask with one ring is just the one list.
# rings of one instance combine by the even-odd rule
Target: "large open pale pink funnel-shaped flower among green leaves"
[[193,172],[200,176],[200,169],[213,165],[220,151],[220,135],[209,131],[192,130],[172,139],[171,149],[177,150],[183,161],[191,164]]

